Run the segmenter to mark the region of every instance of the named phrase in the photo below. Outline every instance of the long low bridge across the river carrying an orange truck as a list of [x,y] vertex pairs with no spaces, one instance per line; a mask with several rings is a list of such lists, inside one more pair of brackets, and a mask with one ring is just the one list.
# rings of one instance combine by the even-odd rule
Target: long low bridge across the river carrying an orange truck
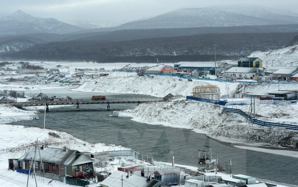
[[72,100],[39,100],[39,101],[27,101],[27,102],[14,102],[11,105],[22,108],[27,106],[46,106],[46,111],[49,111],[51,105],[76,105],[76,109],[81,104],[106,104],[107,109],[110,110],[110,104],[125,104],[125,103],[144,103],[144,102],[157,102],[162,101],[160,98],[156,99],[72,99]]

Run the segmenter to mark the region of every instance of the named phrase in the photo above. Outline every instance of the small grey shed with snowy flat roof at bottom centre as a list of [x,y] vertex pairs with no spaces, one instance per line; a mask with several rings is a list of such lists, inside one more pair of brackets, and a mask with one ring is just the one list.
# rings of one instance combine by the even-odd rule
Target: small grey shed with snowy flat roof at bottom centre
[[180,181],[180,171],[175,169],[155,171],[154,179],[167,185],[178,185]]

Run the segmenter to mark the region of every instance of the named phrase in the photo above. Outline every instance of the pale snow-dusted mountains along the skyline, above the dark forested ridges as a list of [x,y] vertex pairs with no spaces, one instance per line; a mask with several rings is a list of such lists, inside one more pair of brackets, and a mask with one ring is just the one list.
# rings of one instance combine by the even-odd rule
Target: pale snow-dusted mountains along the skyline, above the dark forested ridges
[[223,5],[178,9],[149,19],[125,22],[128,21],[61,22],[54,18],[33,17],[18,10],[0,19],[0,35],[298,24],[298,13],[249,4]]

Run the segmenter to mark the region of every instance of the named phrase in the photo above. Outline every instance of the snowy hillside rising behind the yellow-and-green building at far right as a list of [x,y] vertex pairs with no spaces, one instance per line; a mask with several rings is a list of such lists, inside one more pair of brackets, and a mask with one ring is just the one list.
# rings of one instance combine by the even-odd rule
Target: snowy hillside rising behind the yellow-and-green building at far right
[[266,52],[256,51],[249,57],[259,57],[265,68],[269,66],[298,66],[298,45]]

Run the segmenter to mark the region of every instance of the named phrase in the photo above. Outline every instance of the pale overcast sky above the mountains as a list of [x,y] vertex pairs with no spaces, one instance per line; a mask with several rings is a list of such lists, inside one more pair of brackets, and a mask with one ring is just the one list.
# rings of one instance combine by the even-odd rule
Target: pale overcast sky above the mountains
[[298,12],[298,0],[0,0],[0,17],[18,9],[35,17],[59,20],[138,20],[179,8],[255,4]]

